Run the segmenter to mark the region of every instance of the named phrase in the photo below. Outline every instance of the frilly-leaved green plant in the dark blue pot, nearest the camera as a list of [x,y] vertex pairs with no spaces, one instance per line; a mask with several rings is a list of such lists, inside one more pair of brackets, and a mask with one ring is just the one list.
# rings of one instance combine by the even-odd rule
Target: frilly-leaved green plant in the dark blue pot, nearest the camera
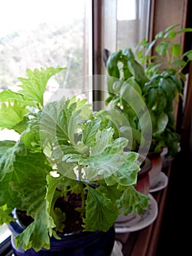
[[63,69],[27,69],[18,92],[0,93],[0,127],[20,135],[0,141],[0,224],[15,255],[110,255],[121,208],[148,207],[135,189],[139,154],[123,150],[128,140],[114,138],[106,117],[75,96],[44,103]]

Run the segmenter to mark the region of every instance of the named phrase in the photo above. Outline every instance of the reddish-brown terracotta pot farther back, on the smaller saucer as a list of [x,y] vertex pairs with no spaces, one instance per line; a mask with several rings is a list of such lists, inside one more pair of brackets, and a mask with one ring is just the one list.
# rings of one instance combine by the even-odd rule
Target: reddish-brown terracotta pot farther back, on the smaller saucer
[[160,153],[148,153],[147,157],[150,159],[151,162],[151,169],[149,172],[150,177],[150,189],[155,187],[155,185],[158,183],[158,174],[161,173],[163,161]]

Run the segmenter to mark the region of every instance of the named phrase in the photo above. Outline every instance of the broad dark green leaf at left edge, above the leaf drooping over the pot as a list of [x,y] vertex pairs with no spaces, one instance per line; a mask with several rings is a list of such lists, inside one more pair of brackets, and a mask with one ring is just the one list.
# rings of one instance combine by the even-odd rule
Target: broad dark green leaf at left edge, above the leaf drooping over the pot
[[[46,176],[52,170],[47,164],[44,154],[30,154],[15,156],[9,172],[6,172],[0,183],[0,201],[7,200],[7,206],[28,209],[28,214],[33,217],[35,208],[45,198]],[[6,170],[5,170],[6,171]],[[4,171],[4,172],[5,172]]]

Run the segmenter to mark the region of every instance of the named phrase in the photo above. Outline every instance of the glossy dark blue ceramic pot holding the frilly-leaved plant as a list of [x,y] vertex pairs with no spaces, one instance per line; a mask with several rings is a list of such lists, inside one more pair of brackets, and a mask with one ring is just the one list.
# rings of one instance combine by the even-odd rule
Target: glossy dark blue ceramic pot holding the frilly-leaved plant
[[9,229],[12,232],[12,249],[15,256],[110,256],[115,243],[115,227],[110,227],[106,233],[80,232],[64,236],[61,240],[50,238],[50,249],[34,249],[24,251],[15,246],[15,236],[23,231],[18,222],[10,222]]

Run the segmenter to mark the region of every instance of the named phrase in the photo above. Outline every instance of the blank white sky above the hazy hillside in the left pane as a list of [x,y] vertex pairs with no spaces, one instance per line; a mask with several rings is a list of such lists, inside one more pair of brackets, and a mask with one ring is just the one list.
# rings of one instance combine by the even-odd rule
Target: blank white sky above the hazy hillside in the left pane
[[0,37],[31,29],[39,23],[66,23],[84,15],[85,0],[4,0],[0,9]]

